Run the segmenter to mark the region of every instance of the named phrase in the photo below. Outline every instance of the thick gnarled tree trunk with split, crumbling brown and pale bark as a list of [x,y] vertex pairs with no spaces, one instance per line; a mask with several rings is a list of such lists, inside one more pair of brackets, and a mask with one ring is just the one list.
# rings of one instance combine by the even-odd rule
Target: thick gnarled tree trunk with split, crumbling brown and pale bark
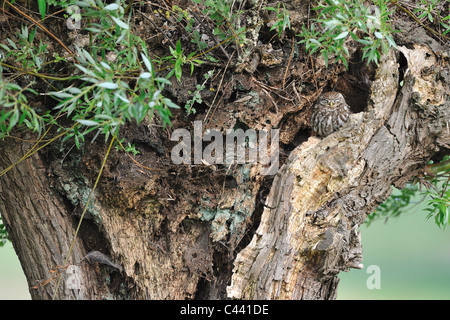
[[[155,122],[130,125],[121,135],[141,150],[143,166],[126,154],[109,156],[74,238],[106,154],[101,139],[80,151],[55,142],[14,165],[0,179],[0,213],[32,298],[335,298],[338,273],[361,267],[358,227],[366,215],[391,185],[401,188],[450,148],[448,54],[421,37],[399,39],[377,68],[367,108],[334,134],[297,143],[273,180],[260,165],[175,165],[170,132]],[[279,79],[290,60],[283,61],[272,70]],[[304,80],[298,70],[307,63],[289,63],[293,82]],[[229,103],[209,124],[279,127],[283,145],[295,145],[308,135],[313,99],[327,81],[339,83],[328,74],[316,70],[309,78],[316,90],[298,103],[270,91],[263,76],[228,76]],[[194,78],[174,83],[171,93],[195,87]],[[173,129],[190,122],[177,114]],[[2,142],[0,167],[32,145]]]

